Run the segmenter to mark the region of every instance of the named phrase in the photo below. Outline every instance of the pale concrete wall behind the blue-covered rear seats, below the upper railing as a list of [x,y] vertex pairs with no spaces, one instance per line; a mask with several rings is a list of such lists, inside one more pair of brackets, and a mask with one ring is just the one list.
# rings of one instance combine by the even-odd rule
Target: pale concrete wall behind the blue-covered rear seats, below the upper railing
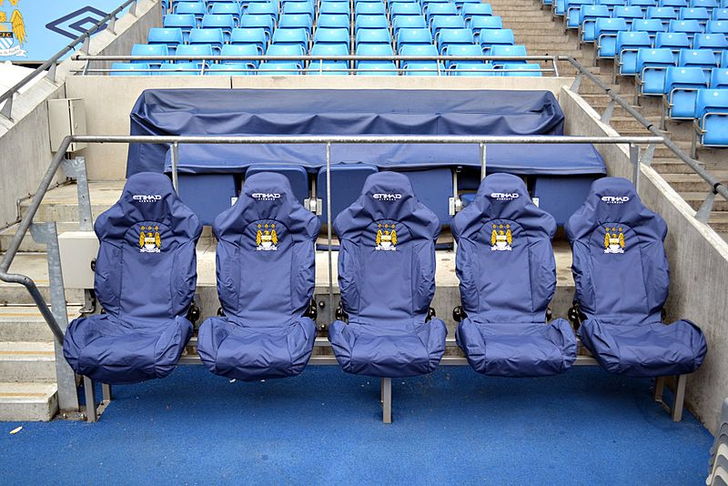
[[[249,89],[542,89],[557,97],[572,78],[519,77],[344,77],[344,76],[74,76],[67,81],[69,97],[86,103],[88,132],[94,135],[128,135],[129,113],[139,95],[152,88]],[[113,108],[109,107],[113,93]],[[126,174],[126,145],[90,145],[85,151],[92,180],[118,180]]]

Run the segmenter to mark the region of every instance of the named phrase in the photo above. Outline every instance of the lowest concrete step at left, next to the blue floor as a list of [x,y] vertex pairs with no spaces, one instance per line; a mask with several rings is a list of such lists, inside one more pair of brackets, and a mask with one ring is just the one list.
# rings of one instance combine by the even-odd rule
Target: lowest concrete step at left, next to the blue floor
[[0,383],[0,421],[47,422],[58,411],[53,383]]

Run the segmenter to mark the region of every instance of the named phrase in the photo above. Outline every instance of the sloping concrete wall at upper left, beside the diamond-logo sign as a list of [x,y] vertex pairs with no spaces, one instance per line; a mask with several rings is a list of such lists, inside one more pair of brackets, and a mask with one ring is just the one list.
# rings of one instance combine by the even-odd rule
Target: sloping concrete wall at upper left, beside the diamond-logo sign
[[[138,17],[124,15],[117,21],[117,35],[101,32],[91,41],[95,54],[128,53],[131,45],[143,41],[152,25],[161,23],[161,9],[156,1],[141,0]],[[138,20],[138,21],[137,21]],[[82,67],[66,60],[57,71],[56,83],[41,79],[21,90],[13,103],[13,121],[0,117],[0,228],[18,218],[17,202],[35,192],[53,157],[50,149],[47,100],[67,96],[64,80],[73,69]],[[107,96],[107,108],[109,97]],[[57,182],[62,181],[62,175]]]

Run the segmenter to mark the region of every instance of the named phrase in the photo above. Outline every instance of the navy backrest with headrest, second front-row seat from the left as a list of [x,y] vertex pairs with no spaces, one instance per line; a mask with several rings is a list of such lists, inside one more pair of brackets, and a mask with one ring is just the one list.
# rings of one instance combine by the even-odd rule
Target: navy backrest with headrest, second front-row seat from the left
[[258,326],[302,315],[313,296],[320,227],[284,175],[248,177],[238,201],[213,225],[217,292],[225,314]]

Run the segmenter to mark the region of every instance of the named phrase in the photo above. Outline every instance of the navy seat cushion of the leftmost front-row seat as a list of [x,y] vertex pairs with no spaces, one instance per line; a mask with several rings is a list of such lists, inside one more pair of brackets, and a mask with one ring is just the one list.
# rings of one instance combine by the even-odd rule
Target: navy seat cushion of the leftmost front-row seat
[[169,375],[191,335],[192,323],[184,317],[151,332],[100,314],[71,322],[63,355],[79,375],[110,385],[139,383]]

